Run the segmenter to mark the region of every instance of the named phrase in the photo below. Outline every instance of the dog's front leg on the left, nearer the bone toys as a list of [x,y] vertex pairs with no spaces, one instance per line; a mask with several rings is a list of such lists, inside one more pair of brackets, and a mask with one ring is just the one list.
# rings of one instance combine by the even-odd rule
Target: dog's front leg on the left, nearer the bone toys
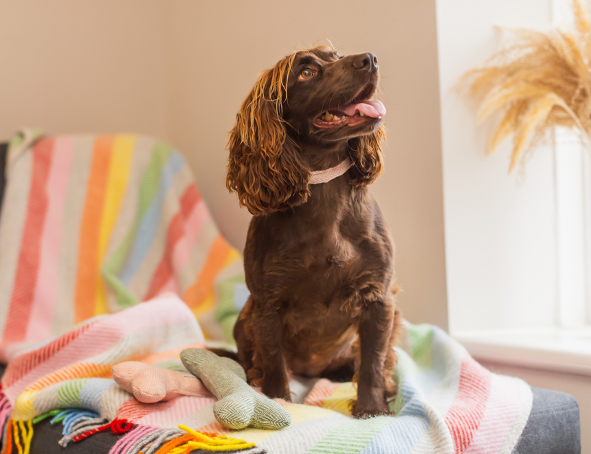
[[257,310],[256,320],[256,362],[263,372],[260,386],[270,398],[291,400],[289,377],[283,354],[283,324],[276,310]]

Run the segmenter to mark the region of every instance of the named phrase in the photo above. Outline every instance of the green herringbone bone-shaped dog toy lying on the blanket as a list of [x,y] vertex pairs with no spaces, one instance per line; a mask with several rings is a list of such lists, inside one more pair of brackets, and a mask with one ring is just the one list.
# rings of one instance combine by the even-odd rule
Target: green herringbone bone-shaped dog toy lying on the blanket
[[291,424],[284,407],[247,385],[246,374],[236,361],[201,348],[183,350],[181,361],[219,399],[214,403],[214,416],[225,427],[283,429]]

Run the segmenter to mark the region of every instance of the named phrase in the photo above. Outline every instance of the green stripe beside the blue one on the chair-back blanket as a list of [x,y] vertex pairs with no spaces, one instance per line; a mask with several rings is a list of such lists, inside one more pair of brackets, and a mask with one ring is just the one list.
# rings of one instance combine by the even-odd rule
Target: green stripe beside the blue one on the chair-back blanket
[[160,184],[162,168],[166,164],[171,152],[172,147],[170,145],[161,142],[155,143],[152,150],[152,156],[150,157],[150,163],[148,164],[148,168],[140,183],[139,201],[133,225],[109,260],[107,260],[102,266],[104,280],[107,281],[107,284],[109,284],[111,290],[115,294],[119,308],[128,308],[139,302],[137,298],[133,296],[131,291],[122,284],[119,280],[118,274],[129,255],[129,251],[137,233],[137,228],[140,226],[142,219],[146,216],[146,212],[148,212],[148,208],[154,200]]

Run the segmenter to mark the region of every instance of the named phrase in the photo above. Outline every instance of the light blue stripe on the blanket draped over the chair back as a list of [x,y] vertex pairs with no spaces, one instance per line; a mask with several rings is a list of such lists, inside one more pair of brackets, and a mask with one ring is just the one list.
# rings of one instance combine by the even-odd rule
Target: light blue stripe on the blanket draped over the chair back
[[128,286],[133,279],[137,270],[140,269],[140,265],[146,258],[150,247],[152,246],[156,237],[158,226],[160,225],[160,219],[162,216],[162,207],[164,206],[164,198],[166,193],[172,187],[175,176],[185,166],[185,161],[176,152],[170,153],[168,161],[162,167],[160,172],[160,181],[158,184],[158,190],[154,196],[146,215],[142,219],[140,226],[137,228],[133,246],[129,252],[129,256],[121,270],[120,280]]

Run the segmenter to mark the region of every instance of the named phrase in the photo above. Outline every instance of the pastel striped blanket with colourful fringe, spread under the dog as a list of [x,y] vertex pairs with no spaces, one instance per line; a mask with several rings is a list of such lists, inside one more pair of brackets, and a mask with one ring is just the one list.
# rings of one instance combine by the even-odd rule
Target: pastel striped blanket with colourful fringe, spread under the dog
[[110,454],[188,452],[183,447],[190,449],[190,440],[208,449],[179,424],[209,433],[205,441],[213,444],[219,437],[211,433],[225,435],[225,442],[234,440],[230,446],[251,454],[511,453],[531,409],[526,383],[485,370],[430,325],[405,324],[396,348],[400,390],[390,402],[395,417],[350,418],[353,385],[321,379],[305,405],[278,400],[291,413],[286,429],[230,431],[214,418],[214,398],[145,404],[109,374],[131,359],[184,370],[179,352],[203,341],[191,310],[172,295],[91,319],[20,354],[2,379],[4,440],[18,440],[27,453],[36,422],[52,417],[63,422],[63,446],[101,430],[125,433]]

